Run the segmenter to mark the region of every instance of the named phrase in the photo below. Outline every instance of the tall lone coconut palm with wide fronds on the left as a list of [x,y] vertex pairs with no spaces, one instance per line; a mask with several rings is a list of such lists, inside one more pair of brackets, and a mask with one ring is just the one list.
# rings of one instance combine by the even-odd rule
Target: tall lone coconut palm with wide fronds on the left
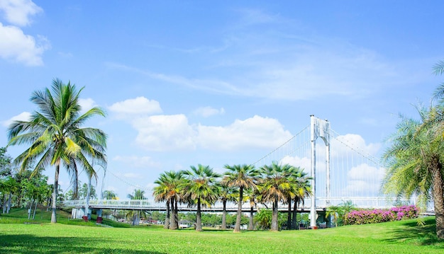
[[96,171],[90,161],[94,158],[102,166],[106,164],[106,134],[100,129],[82,127],[95,115],[104,116],[100,108],[91,108],[81,115],[79,94],[76,86],[60,79],[52,81],[52,90],[33,92],[30,101],[38,111],[28,121],[14,121],[8,128],[8,146],[30,144],[18,155],[14,163],[21,170],[34,166],[35,171],[47,166],[55,167],[54,191],[52,193],[51,222],[56,223],[56,202],[60,166],[72,170],[72,161],[96,178]]

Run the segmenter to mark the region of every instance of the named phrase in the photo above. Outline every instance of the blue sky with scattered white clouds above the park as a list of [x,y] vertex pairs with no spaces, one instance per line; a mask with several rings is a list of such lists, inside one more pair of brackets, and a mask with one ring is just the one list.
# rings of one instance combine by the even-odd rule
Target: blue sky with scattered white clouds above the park
[[[444,80],[433,74],[444,59],[443,9],[442,1],[0,0],[0,146],[11,121],[36,110],[31,93],[61,79],[83,88],[84,110],[106,111],[86,126],[108,134],[103,186],[120,198],[150,192],[164,171],[252,163],[310,115],[378,157],[399,113],[416,117],[413,105],[430,103]],[[45,174],[53,180],[53,168]],[[70,188],[64,170],[60,185]]]

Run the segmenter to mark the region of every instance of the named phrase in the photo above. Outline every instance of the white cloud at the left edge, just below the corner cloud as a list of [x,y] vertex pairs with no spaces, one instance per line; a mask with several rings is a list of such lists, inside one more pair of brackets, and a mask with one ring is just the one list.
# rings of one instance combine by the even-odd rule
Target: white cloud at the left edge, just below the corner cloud
[[21,62],[29,66],[43,65],[42,55],[50,48],[45,37],[37,40],[25,35],[20,28],[0,23],[0,57]]

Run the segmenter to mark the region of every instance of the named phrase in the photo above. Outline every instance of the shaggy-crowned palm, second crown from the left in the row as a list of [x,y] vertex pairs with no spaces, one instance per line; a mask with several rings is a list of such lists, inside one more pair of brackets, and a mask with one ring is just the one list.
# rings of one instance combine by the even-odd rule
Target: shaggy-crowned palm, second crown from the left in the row
[[218,200],[218,187],[216,179],[221,175],[215,173],[210,166],[199,164],[197,167],[190,166],[190,170],[183,171],[187,181],[184,182],[184,198],[191,205],[196,204],[196,231],[202,231],[201,205],[206,207]]

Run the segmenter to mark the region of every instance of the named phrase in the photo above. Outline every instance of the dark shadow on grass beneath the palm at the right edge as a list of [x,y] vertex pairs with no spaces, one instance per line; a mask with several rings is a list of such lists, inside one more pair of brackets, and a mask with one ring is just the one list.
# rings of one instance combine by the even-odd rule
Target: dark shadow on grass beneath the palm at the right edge
[[[403,227],[397,227],[386,241],[401,242],[414,241],[418,245],[436,245],[444,248],[444,241],[436,236],[436,225],[434,219],[426,219],[424,226],[418,226],[416,221],[406,221]],[[440,244],[439,244],[440,243]]]

